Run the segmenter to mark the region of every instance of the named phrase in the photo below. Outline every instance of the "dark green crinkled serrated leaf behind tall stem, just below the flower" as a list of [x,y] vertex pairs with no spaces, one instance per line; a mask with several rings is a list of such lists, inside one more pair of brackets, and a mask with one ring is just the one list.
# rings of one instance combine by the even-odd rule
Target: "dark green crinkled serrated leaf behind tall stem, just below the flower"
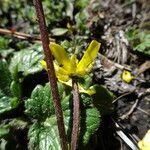
[[[59,85],[59,93],[63,98],[62,107],[66,110],[69,105],[70,95],[65,95],[63,85]],[[31,98],[25,102],[26,113],[38,120],[45,120],[47,117],[55,113],[51,89],[49,83],[44,87],[41,85],[36,86],[31,94]]]

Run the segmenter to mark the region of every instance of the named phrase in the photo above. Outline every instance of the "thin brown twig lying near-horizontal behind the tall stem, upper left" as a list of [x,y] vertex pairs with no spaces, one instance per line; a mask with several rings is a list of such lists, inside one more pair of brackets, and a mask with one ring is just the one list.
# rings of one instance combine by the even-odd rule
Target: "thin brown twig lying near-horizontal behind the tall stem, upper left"
[[[8,29],[0,28],[0,34],[11,35],[13,37],[16,37],[22,40],[32,40],[36,42],[41,42],[40,36],[30,35],[30,34],[23,33],[23,32],[17,32],[15,30],[8,30]],[[51,39],[51,38],[49,38],[49,40],[53,42],[55,41],[54,39]]]

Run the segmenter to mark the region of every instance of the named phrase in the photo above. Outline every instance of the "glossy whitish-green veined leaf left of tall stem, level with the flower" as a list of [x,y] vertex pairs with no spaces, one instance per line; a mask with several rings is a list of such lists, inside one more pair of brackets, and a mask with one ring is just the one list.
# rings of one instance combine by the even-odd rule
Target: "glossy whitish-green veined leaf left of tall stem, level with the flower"
[[17,80],[41,71],[42,66],[39,61],[43,57],[43,50],[39,44],[34,44],[29,48],[16,52],[10,63],[10,72],[13,79]]

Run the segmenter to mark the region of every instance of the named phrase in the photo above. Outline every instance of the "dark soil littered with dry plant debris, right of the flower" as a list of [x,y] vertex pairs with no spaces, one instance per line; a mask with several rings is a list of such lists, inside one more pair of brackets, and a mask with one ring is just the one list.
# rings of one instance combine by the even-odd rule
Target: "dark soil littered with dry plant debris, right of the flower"
[[[122,1],[103,1],[101,13],[104,18],[100,24],[103,28],[102,54],[113,63],[129,66],[132,72],[140,68],[148,58],[134,53],[126,42],[125,31],[128,26],[139,26],[142,21],[142,10],[140,1],[133,4],[122,5]],[[136,7],[136,9],[134,9]],[[117,40],[116,40],[117,39]],[[108,42],[110,41],[110,42]],[[117,49],[117,47],[119,47]],[[124,54],[123,54],[124,51]],[[95,78],[97,83],[104,84],[110,91],[116,93],[114,102],[115,112],[113,116],[106,116],[102,120],[102,126],[98,133],[100,147],[103,150],[130,150],[131,148],[118,131],[123,132],[137,146],[137,142],[143,138],[150,129],[150,83],[149,71],[145,71],[139,78],[144,81],[133,81],[130,84],[121,79],[122,69],[114,66],[107,59],[99,56],[96,62]],[[116,126],[116,123],[119,127]],[[138,148],[137,148],[138,149]]]

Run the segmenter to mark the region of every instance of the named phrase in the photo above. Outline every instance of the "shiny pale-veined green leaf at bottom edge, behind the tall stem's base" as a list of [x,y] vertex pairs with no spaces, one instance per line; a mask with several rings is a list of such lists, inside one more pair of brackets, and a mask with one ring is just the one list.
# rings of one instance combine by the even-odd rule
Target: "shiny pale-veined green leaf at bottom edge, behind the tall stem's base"
[[[64,122],[65,127],[69,123],[69,111],[64,112]],[[67,117],[68,116],[68,117]],[[31,126],[28,136],[29,136],[29,149],[30,150],[61,150],[59,134],[57,129],[57,121],[55,115],[47,118],[42,124],[35,123]]]

